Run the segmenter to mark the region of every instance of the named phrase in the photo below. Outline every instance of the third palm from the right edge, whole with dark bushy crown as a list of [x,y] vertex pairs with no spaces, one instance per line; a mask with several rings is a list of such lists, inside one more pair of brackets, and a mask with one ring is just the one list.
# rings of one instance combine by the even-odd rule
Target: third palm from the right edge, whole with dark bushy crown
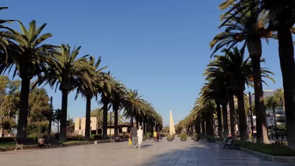
[[[225,52],[225,56],[214,56],[216,60],[212,61],[208,65],[210,67],[207,69],[207,77],[212,77],[211,74],[216,76],[216,72],[218,72],[228,79],[228,84],[232,86],[232,89],[238,99],[240,137],[241,140],[246,140],[247,133],[244,90],[245,84],[252,86],[252,64],[248,58],[244,60],[243,52],[239,51],[237,47],[233,48],[232,51],[224,49],[222,52]],[[273,80],[269,74],[272,73],[267,69],[262,68],[262,77]]]

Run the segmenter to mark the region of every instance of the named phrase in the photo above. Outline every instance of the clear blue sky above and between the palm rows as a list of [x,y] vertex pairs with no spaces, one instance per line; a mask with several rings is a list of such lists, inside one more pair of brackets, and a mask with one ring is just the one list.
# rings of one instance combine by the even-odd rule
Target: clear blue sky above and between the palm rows
[[[35,19],[48,23],[53,34],[48,43],[82,46],[81,55],[102,57],[118,80],[138,89],[169,124],[187,116],[203,83],[202,73],[210,61],[209,42],[220,32],[218,0],[6,0],[1,18],[19,19],[26,26]],[[18,28],[12,24],[12,28]],[[263,44],[263,57],[282,86],[278,44]],[[266,88],[266,86],[264,86]],[[54,93],[54,108],[61,107],[61,93]],[[253,91],[252,89],[250,89]],[[85,115],[85,100],[68,99],[70,117]],[[92,101],[92,108],[98,105]]]

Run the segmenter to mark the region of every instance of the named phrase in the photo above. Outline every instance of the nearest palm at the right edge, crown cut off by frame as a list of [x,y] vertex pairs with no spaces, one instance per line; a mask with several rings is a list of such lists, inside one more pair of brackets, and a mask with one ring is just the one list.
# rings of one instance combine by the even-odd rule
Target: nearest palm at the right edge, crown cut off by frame
[[[234,3],[235,2],[235,3]],[[226,0],[220,5],[222,9],[227,9],[228,13],[235,11],[234,15],[245,13],[252,8],[261,7],[260,10],[269,11],[270,21],[268,30],[278,32],[279,40],[279,60],[283,78],[284,100],[288,146],[295,148],[295,60],[292,33],[295,33],[293,25],[295,23],[294,0]]]

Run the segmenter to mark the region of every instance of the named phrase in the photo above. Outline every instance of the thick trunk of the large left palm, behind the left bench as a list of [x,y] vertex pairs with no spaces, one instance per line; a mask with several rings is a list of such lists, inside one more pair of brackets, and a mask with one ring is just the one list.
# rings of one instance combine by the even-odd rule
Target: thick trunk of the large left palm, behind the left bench
[[17,137],[27,138],[28,105],[31,80],[27,77],[21,79],[19,114],[17,124]]

